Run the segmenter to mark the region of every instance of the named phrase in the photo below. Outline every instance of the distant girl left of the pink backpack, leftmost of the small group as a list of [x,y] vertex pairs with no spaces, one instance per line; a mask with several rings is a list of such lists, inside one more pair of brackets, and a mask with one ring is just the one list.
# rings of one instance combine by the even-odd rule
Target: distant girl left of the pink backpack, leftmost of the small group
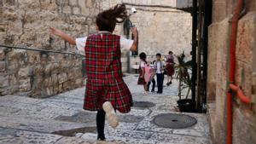
[[138,85],[143,85],[144,87],[144,93],[147,94],[148,92],[148,85],[147,82],[145,81],[144,75],[145,75],[145,66],[147,65],[147,55],[145,53],[141,53],[139,55],[140,57],[140,65],[139,65],[139,78],[137,80],[137,84]]

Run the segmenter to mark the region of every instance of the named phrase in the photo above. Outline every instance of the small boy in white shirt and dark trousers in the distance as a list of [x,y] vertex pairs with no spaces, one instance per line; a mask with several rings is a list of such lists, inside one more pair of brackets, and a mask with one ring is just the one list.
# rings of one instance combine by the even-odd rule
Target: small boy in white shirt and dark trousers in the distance
[[154,62],[154,66],[156,67],[156,78],[157,78],[157,94],[163,93],[163,84],[164,84],[164,69],[165,64],[161,60],[161,54],[156,54],[156,61]]

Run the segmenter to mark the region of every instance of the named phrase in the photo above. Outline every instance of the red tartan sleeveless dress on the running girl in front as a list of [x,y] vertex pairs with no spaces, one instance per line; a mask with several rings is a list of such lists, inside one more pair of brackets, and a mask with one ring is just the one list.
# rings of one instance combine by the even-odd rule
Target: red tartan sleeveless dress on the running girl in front
[[120,37],[108,32],[91,35],[84,50],[88,78],[84,109],[101,110],[110,101],[119,112],[130,112],[132,97],[123,80]]

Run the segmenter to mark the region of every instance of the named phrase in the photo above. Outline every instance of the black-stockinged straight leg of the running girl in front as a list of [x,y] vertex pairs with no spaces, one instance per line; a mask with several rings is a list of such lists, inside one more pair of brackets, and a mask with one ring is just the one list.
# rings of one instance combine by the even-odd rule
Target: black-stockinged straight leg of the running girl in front
[[96,115],[98,139],[101,139],[102,141],[105,140],[105,135],[104,135],[105,115],[106,115],[106,112],[104,112],[103,110],[98,111]]

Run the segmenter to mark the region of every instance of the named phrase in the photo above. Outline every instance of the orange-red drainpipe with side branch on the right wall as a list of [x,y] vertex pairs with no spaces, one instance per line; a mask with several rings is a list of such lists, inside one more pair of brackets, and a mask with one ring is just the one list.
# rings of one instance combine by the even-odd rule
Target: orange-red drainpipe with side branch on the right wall
[[227,94],[227,144],[232,144],[232,91],[236,92],[237,97],[244,103],[249,104],[251,100],[243,94],[240,87],[235,85],[235,70],[236,70],[236,33],[239,15],[243,7],[244,0],[238,0],[235,13],[232,19],[232,29],[230,35],[230,90]]

